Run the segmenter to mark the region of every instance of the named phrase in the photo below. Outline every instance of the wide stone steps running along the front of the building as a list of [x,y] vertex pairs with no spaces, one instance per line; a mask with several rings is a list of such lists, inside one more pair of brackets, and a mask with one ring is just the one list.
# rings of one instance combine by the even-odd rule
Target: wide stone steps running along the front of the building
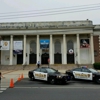
[[[81,65],[76,65],[76,64],[54,64],[50,65],[51,68],[57,69],[57,70],[70,70],[76,67],[81,67],[81,66],[87,66],[88,68],[93,68],[91,64],[81,64]],[[48,67],[48,65],[41,65],[40,67]],[[37,66],[34,65],[0,65],[0,70],[32,70],[37,68]]]

